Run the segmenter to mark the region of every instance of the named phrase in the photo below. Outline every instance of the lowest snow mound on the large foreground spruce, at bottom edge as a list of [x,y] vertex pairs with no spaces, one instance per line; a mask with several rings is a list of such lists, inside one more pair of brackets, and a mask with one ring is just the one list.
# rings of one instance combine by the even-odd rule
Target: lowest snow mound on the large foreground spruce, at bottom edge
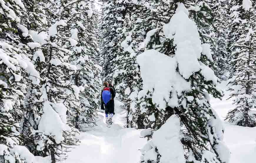
[[161,155],[160,162],[185,163],[184,150],[179,141],[180,121],[175,115],[172,115],[161,128],[154,132],[152,140],[149,141],[141,150],[142,161],[157,160],[157,148]]

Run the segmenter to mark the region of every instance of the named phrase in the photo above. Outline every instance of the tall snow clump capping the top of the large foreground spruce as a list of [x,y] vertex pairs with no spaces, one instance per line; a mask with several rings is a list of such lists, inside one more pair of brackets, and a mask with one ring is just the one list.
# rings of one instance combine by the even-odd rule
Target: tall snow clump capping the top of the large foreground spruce
[[188,10],[184,4],[178,4],[170,23],[164,25],[164,35],[170,40],[173,39],[174,45],[176,45],[175,57],[179,64],[179,73],[188,79],[193,72],[199,71],[201,66],[198,59],[202,52],[201,41],[197,27],[189,19]]

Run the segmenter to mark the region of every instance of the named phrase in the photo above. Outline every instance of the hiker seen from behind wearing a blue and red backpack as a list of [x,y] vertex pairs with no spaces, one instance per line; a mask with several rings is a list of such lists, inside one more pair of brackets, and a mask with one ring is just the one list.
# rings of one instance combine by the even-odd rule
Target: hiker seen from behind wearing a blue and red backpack
[[[112,118],[114,116],[114,97],[115,92],[112,87],[109,87],[108,82],[103,83],[103,90],[101,92],[101,109],[105,110],[106,123],[112,124]],[[104,108],[105,107],[105,108]]]

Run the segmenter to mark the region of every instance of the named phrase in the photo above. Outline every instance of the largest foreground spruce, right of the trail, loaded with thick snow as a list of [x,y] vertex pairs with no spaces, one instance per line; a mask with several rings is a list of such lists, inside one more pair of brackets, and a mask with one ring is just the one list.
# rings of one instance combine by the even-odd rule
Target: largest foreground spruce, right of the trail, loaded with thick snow
[[[183,2],[190,4],[191,1]],[[207,4],[204,2],[199,9],[203,10],[205,7],[207,7]],[[190,9],[191,8],[195,9],[198,7],[190,6]],[[149,160],[159,162],[161,159],[170,158],[164,155],[165,153],[163,152],[163,146],[159,146],[158,149],[158,140],[156,140],[157,136],[154,136],[154,134],[152,135],[152,131],[155,131],[156,133],[158,130],[160,131],[163,125],[167,123],[167,119],[169,120],[169,117],[172,116],[172,114],[179,117],[179,121],[182,126],[180,128],[182,138],[180,137],[179,129],[177,129],[178,138],[180,138],[181,142],[179,147],[183,147],[183,153],[177,153],[179,157],[185,155],[186,162],[200,161],[205,163],[217,163],[228,162],[229,160],[229,152],[226,153],[226,157],[222,157],[223,151],[220,150],[220,148],[225,148],[227,150],[227,147],[222,143],[224,130],[220,119],[218,118],[215,111],[211,108],[209,102],[209,94],[212,94],[215,98],[220,99],[223,94],[222,91],[217,89],[217,77],[209,68],[212,60],[212,56],[209,53],[210,46],[204,44],[205,42],[203,41],[203,44],[201,45],[200,39],[202,39],[202,37],[200,37],[200,31],[198,32],[195,24],[188,17],[189,13],[194,14],[193,12],[195,12],[195,10],[190,10],[189,12],[182,3],[178,3],[175,5],[176,14],[172,16],[169,24],[164,25],[163,32],[166,38],[164,38],[165,40],[162,42],[165,43],[165,47],[172,47],[167,49],[170,50],[169,52],[164,51],[164,54],[172,54],[169,56],[169,58],[155,50],[147,50],[137,57],[140,65],[144,89],[139,92],[140,108],[144,116],[148,117],[147,126],[145,127],[152,128],[149,130],[150,132],[143,136],[153,138],[153,140],[150,141],[142,151],[143,155],[145,156],[144,159],[142,159],[142,162],[147,162]],[[194,16],[197,16],[197,14]],[[208,15],[205,13],[203,16]],[[195,17],[193,19],[197,20]],[[147,34],[148,38],[151,36],[152,33]],[[193,40],[195,38],[196,40]],[[193,41],[188,41],[188,39],[192,39]],[[150,42],[152,40],[147,38],[146,40],[146,45],[154,44]],[[167,46],[167,44],[169,45]],[[189,53],[186,52],[186,49],[189,51]],[[195,59],[195,63],[200,65],[199,67],[195,66],[195,63],[192,64],[192,60],[194,59],[188,59],[188,57],[191,56],[194,52],[198,57]],[[157,56],[159,56],[159,61]],[[152,60],[150,60],[151,58]],[[160,60],[161,58],[162,60]],[[155,65],[157,65],[156,67],[153,66],[153,60],[155,61]],[[186,60],[192,62],[188,64]],[[144,67],[144,65],[150,65],[149,63],[153,64],[153,68],[150,69],[151,66]],[[158,63],[161,63],[161,65]],[[175,64],[177,65],[175,66]],[[174,67],[169,67],[169,65],[173,65]],[[190,65],[189,68],[187,65]],[[166,69],[154,70],[154,68],[157,69],[158,67],[166,67]],[[171,70],[171,68],[173,70]],[[163,73],[166,70],[168,70],[168,73]],[[150,79],[148,73],[145,73],[146,71],[152,71],[151,73],[161,72],[163,75],[157,75],[157,79],[155,79],[156,83],[154,83],[153,78]],[[177,76],[175,75],[176,73]],[[169,85],[169,89],[167,89],[167,84]],[[166,87],[162,85],[166,85]],[[170,92],[168,92],[169,90]],[[164,92],[166,94],[164,94],[162,97],[161,95]],[[169,132],[171,131],[168,131],[167,133]],[[172,145],[170,144],[169,146]],[[154,159],[153,157],[146,157],[149,155],[147,152],[152,152],[151,149],[155,153],[153,155]],[[206,156],[205,153],[207,152],[211,153],[210,157]],[[176,155],[175,158],[177,158]]]

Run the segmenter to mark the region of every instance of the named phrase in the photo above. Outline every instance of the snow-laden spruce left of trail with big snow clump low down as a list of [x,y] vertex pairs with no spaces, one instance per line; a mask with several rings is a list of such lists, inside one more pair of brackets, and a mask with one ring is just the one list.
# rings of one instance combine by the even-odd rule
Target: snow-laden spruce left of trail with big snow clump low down
[[70,47],[77,44],[67,30],[67,12],[72,4],[64,3],[47,4],[49,28],[46,32],[30,30],[35,42],[28,43],[33,50],[34,65],[40,72],[40,83],[31,85],[26,95],[28,112],[23,132],[27,132],[24,135],[28,138],[25,145],[34,155],[50,156],[52,163],[65,159],[62,154],[76,145],[74,135],[78,133],[72,123],[74,117],[67,114],[79,109],[80,99],[79,88],[70,80],[76,67],[68,60],[72,55]]

